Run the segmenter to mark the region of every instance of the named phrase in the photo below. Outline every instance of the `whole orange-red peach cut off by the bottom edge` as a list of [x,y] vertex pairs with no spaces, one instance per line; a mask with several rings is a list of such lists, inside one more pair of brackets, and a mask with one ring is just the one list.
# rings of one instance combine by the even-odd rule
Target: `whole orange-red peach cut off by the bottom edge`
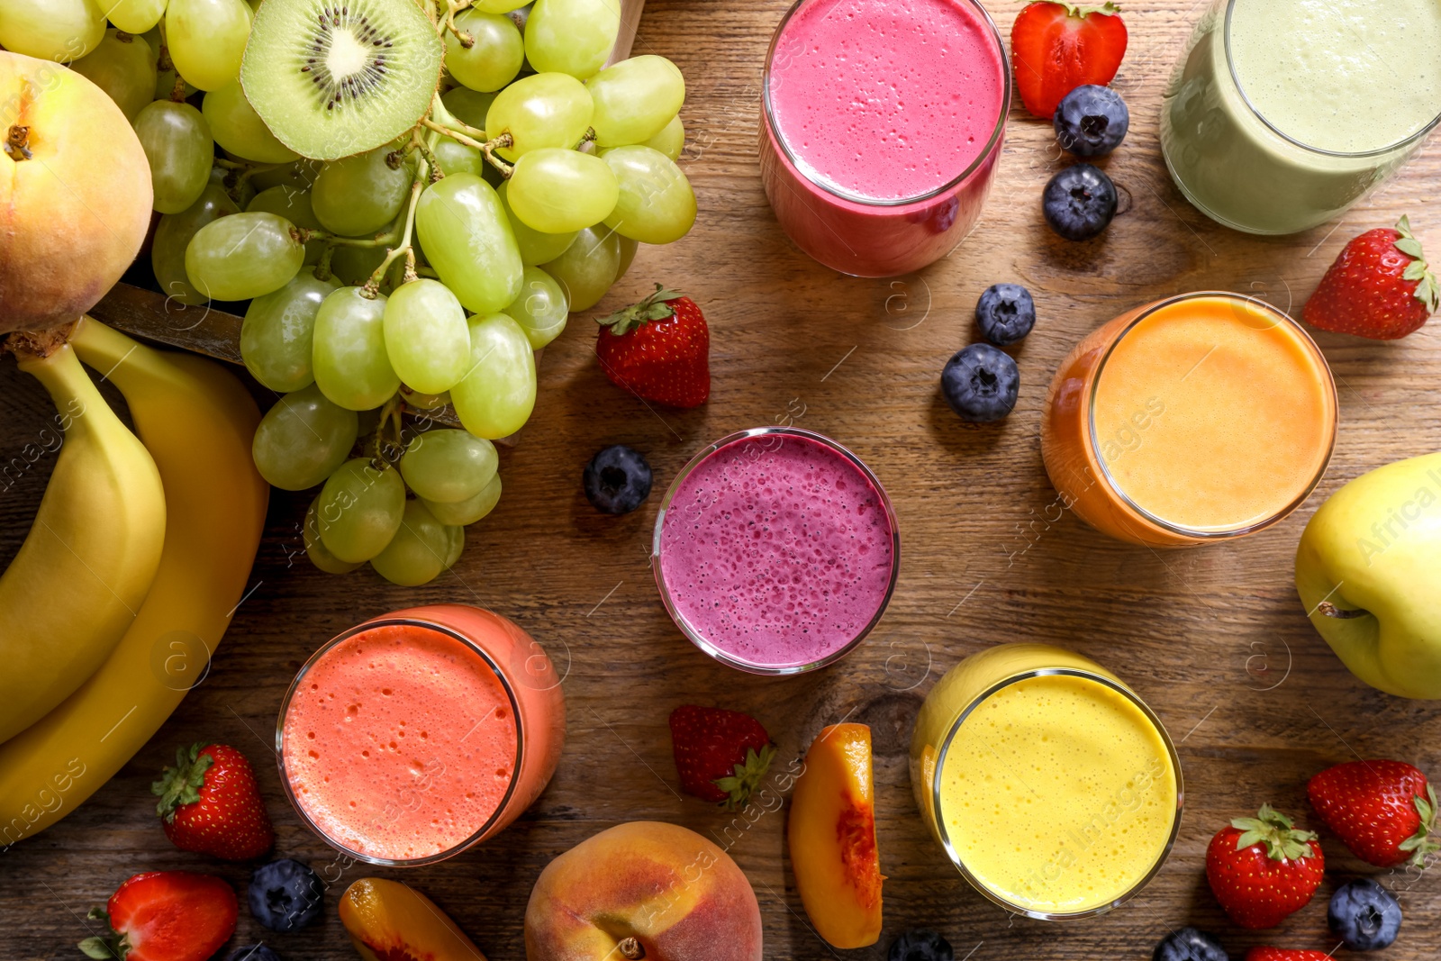
[[526,906],[529,961],[761,961],[761,908],[723,850],[631,821],[550,862]]

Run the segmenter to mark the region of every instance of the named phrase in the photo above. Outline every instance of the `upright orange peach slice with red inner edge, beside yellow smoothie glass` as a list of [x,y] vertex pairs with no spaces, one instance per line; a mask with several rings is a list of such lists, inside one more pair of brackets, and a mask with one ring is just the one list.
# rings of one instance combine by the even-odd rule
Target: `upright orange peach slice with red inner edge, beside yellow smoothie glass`
[[880,853],[870,728],[831,725],[806,755],[787,823],[791,869],[816,932],[837,948],[880,938]]

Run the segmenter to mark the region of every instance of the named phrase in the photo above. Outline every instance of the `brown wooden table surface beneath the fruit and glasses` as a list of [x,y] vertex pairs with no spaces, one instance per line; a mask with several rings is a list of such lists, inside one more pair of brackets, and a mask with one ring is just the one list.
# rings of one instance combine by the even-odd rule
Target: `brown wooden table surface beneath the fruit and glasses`
[[[174,746],[200,738],[241,746],[259,771],[277,852],[317,869],[329,849],[290,810],[271,762],[271,730],[295,669],[324,640],[385,611],[457,601],[514,618],[565,671],[569,733],[549,790],[501,836],[444,864],[380,870],[434,898],[491,961],[523,958],[522,916],[532,883],[556,854],[625,820],[684,824],[726,839],[765,919],[765,957],[882,958],[914,925],[941,929],[957,958],[1148,958],[1180,925],[1221,934],[1232,955],[1280,944],[1330,951],[1326,900],[1356,875],[1376,876],[1406,911],[1388,961],[1435,957],[1441,892],[1432,877],[1378,872],[1326,840],[1327,879],[1280,929],[1242,932],[1206,888],[1206,841],[1262,801],[1303,821],[1306,779],[1357,756],[1395,756],[1441,775],[1441,705],[1401,700],[1355,680],[1303,617],[1291,584],[1297,537],[1321,499],[1380,464],[1441,448],[1441,324],[1391,344],[1320,334],[1340,390],[1342,426],[1330,471],[1311,501],[1258,536],[1157,553],[1107,540],[1058,516],[1040,464],[1045,385],[1066,350],[1117,313],[1167,294],[1251,292],[1298,310],[1342,243],[1409,212],[1441,249],[1441,216],[1425,205],[1438,182],[1435,144],[1342,222],[1257,239],[1210,223],[1166,174],[1157,111],[1166,76],[1202,4],[1157,0],[1127,9],[1131,49],[1117,78],[1131,133],[1105,166],[1121,215],[1102,238],[1068,243],[1045,226],[1042,184],[1063,163],[1046,122],[1013,108],[984,219],[947,259],[919,275],[852,280],[800,254],[775,225],[757,171],[757,91],[785,0],[650,0],[635,53],[663,53],[684,71],[689,146],[682,164],[700,203],[696,229],[647,248],[601,304],[614,308],[653,281],[689,291],[712,324],[710,402],[650,411],[614,389],[592,357],[589,314],[546,350],[540,401],[519,448],[503,454],[500,507],[468,532],[455,571],[418,589],[369,572],[330,576],[300,550],[308,494],[277,491],[252,592],[208,680],[160,735],[78,813],[0,857],[0,960],[79,957],[85,911],[127,876],[202,869],[244,890],[248,872],[174,850],[153,814],[148,784]],[[993,3],[1009,33],[1020,0]],[[997,426],[968,429],[945,406],[938,376],[973,339],[977,295],[1025,284],[1039,321],[1016,350],[1020,401]],[[9,457],[48,416],[39,386],[0,365],[0,452]],[[794,421],[866,460],[901,519],[899,585],[885,621],[847,660],[788,680],[752,679],[695,651],[667,620],[647,553],[660,491],[703,444],[731,431]],[[625,517],[602,517],[581,493],[581,467],[602,445],[647,454],[657,491]],[[1264,457],[1264,451],[1257,451]],[[46,465],[48,470],[49,465]],[[23,537],[45,487],[35,471],[0,497],[0,563]],[[1001,641],[1050,641],[1115,670],[1157,710],[1186,775],[1180,839],[1136,900],[1099,919],[1042,924],[1009,916],[974,893],[924,833],[906,775],[912,718],[935,679]],[[784,843],[784,814],[745,830],[677,794],[666,718],[686,702],[746,710],[794,756],[827,723],[872,726],[885,934],[842,952],[808,928]],[[353,958],[334,895],[366,875],[329,869],[324,925],[272,935],[242,909],[241,938],[265,938],[288,961]],[[970,954],[967,954],[970,952]],[[1344,952],[1343,952],[1344,954]]]

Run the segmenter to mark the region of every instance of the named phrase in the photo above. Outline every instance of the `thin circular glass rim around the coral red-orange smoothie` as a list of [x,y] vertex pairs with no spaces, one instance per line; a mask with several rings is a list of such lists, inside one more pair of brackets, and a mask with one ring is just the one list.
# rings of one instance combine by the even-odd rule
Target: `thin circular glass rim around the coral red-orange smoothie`
[[[476,830],[470,837],[460,841],[454,847],[450,847],[444,852],[437,852],[435,854],[427,854],[425,857],[395,860],[389,857],[380,857],[376,854],[366,854],[363,852],[346,847],[339,840],[330,837],[330,834],[321,830],[318,824],[316,824],[316,821],[310,817],[305,808],[300,804],[298,798],[295,797],[295,791],[290,784],[290,777],[285,774],[285,715],[290,713],[290,702],[295,696],[295,692],[300,690],[301,681],[304,681],[310,670],[317,663],[320,663],[320,660],[331,650],[334,650],[344,641],[349,641],[350,638],[359,634],[365,634],[366,631],[380,627],[427,628],[438,634],[442,634],[451,640],[460,641],[467,650],[478,654],[480,658],[486,663],[486,666],[490,667],[490,670],[496,674],[496,679],[500,681],[501,689],[506,692],[506,699],[510,702],[510,716],[516,722],[514,765],[510,772],[510,781],[509,784],[506,784],[506,791],[500,797],[500,801],[496,804],[496,810],[491,811],[490,817],[486,818],[484,824],[481,824],[480,828]],[[415,618],[415,617],[379,617],[370,621],[365,621],[362,624],[356,624],[354,627],[342,631],[336,637],[321,644],[316,650],[316,653],[311,654],[310,658],[300,667],[300,670],[295,671],[295,679],[290,683],[290,687],[285,690],[285,697],[281,700],[280,705],[280,716],[275,720],[275,764],[280,768],[280,784],[281,790],[285,792],[285,798],[290,801],[290,805],[295,810],[297,814],[300,814],[300,820],[304,821],[305,827],[308,827],[316,834],[316,837],[326,841],[342,854],[353,857],[359,862],[365,862],[367,864],[378,864],[380,867],[424,867],[427,864],[435,864],[438,862],[454,857],[455,854],[460,854],[461,852],[465,852],[478,844],[480,841],[483,841],[486,839],[486,834],[490,833],[490,830],[500,820],[501,814],[506,810],[506,805],[510,804],[510,798],[516,792],[516,784],[519,782],[519,775],[520,775],[520,762],[525,758],[525,746],[526,746],[526,733],[525,733],[525,719],[520,716],[520,702],[516,697],[513,686],[510,684],[510,679],[506,677],[504,671],[500,670],[500,664],[496,663],[496,658],[493,658],[483,647],[471,641],[460,631],[450,628],[444,624],[437,624],[435,621],[427,621],[424,618]]]

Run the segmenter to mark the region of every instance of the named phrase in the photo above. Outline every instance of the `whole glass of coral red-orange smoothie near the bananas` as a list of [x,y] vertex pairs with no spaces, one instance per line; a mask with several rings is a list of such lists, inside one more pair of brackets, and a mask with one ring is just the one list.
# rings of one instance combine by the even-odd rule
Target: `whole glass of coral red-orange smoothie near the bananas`
[[367,621],[301,669],[277,729],[287,792],[334,847],[427,864],[500,831],[559,761],[565,705],[540,647],[460,605]]

